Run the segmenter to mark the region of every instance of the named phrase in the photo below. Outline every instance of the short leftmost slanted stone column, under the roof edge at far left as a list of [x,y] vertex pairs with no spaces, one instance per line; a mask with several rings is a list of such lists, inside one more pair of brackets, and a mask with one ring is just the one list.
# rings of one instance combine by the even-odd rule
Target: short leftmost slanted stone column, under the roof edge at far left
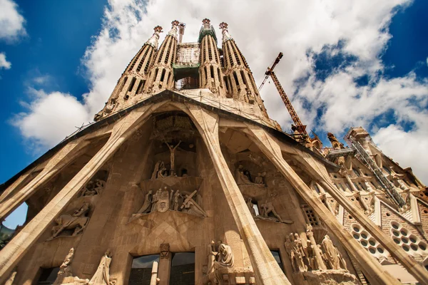
[[[8,214],[14,211],[16,207],[19,207],[20,204],[24,203],[31,195],[39,190],[41,185],[44,185],[46,182],[51,180],[58,172],[65,167],[68,162],[76,157],[76,149],[81,150],[83,147],[88,145],[87,141],[82,142],[81,140],[76,140],[69,142],[61,150],[59,150],[51,160],[49,160],[44,170],[42,170],[39,175],[37,175],[34,180],[31,180],[28,185],[23,187],[21,190],[16,192],[12,197],[5,199],[0,204],[0,220],[4,219]],[[16,186],[15,186],[16,187]],[[6,191],[12,192],[14,188],[10,188]]]

